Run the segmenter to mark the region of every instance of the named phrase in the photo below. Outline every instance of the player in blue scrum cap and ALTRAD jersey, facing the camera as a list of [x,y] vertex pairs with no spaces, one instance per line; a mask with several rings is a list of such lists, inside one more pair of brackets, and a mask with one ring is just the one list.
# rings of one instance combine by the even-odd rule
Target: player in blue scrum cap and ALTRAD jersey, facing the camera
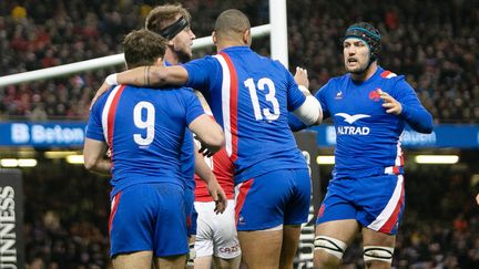
[[358,232],[366,267],[390,268],[405,206],[399,136],[406,124],[432,132],[432,117],[405,76],[378,65],[380,40],[369,23],[350,25],[343,40],[348,73],[316,93],[336,128],[336,165],[316,221],[315,268],[339,267]]

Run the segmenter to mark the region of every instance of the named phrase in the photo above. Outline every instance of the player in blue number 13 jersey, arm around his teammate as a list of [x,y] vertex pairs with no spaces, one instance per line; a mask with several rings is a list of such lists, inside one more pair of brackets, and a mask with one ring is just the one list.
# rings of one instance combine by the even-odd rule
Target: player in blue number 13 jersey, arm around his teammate
[[292,111],[306,124],[318,124],[319,103],[299,90],[279,62],[249,49],[249,20],[241,11],[220,14],[213,41],[218,52],[214,56],[182,66],[140,68],[109,81],[186,85],[203,93],[225,132],[226,152],[235,166],[236,226],[244,261],[252,269],[293,268],[300,224],[308,215],[310,178],[287,114]]

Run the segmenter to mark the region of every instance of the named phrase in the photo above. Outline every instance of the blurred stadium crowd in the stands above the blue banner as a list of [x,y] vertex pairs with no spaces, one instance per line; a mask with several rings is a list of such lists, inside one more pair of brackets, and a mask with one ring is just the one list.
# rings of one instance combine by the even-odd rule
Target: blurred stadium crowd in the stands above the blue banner
[[[345,27],[370,21],[384,33],[379,63],[407,75],[437,123],[478,123],[477,1],[288,3],[289,63],[309,70],[312,89],[344,72],[339,39]],[[0,75],[120,53],[125,33],[142,27],[153,4],[152,0],[1,1]],[[192,22],[197,37],[208,35],[215,17],[231,7],[245,11],[253,25],[268,22],[267,1],[188,0],[184,6],[201,18]],[[268,40],[259,39],[253,46],[268,54]],[[1,87],[0,116],[84,120],[92,93],[114,70]]]

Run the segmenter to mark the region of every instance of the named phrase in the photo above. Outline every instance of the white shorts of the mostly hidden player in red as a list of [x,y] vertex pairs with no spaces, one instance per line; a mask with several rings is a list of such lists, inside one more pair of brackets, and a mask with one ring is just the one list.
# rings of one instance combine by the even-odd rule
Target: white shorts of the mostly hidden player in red
[[198,214],[195,250],[196,257],[212,256],[233,259],[241,255],[235,225],[235,203],[228,200],[223,214],[214,213],[214,201],[195,201]]

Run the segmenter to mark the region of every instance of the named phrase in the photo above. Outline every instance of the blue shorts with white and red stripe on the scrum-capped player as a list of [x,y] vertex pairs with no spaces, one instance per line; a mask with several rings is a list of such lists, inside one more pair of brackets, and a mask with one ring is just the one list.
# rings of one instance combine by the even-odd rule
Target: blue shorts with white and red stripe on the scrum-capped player
[[356,219],[371,230],[396,235],[404,206],[402,175],[333,179],[319,208],[316,225]]

